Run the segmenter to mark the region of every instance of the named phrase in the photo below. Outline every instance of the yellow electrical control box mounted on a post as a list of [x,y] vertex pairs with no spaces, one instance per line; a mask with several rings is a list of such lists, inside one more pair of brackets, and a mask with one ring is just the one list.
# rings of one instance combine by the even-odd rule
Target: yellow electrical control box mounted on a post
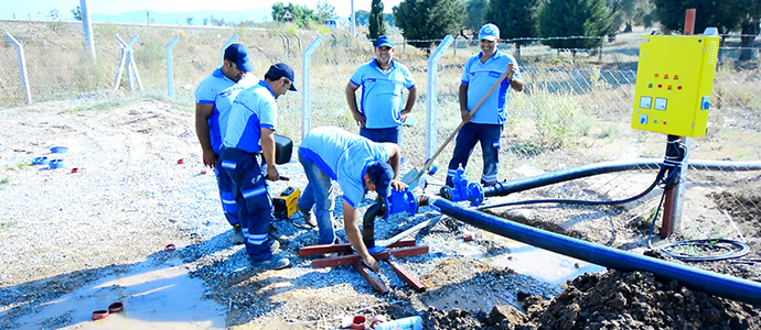
[[718,51],[716,35],[643,36],[632,129],[705,135]]

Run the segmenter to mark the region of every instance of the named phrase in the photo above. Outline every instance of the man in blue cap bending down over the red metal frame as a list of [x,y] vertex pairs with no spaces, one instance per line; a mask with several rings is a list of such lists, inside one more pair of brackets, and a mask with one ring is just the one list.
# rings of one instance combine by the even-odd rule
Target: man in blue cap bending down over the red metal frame
[[309,210],[314,206],[320,229],[319,244],[331,244],[333,231],[332,180],[343,190],[343,223],[349,242],[362,261],[374,272],[380,270],[362,241],[357,207],[367,190],[387,198],[392,188],[407,188],[399,180],[401,155],[395,143],[377,143],[346,130],[333,127],[315,128],[304,136],[299,146],[299,162],[309,179],[297,206]]

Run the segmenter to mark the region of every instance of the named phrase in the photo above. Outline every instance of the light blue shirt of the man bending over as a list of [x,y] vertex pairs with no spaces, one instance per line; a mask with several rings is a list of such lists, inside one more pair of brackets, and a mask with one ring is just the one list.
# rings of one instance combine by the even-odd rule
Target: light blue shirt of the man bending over
[[365,196],[364,178],[367,166],[377,162],[388,162],[390,157],[383,143],[333,127],[309,131],[299,151],[304,161],[314,163],[339,183],[343,190],[343,199],[353,208],[356,208]]

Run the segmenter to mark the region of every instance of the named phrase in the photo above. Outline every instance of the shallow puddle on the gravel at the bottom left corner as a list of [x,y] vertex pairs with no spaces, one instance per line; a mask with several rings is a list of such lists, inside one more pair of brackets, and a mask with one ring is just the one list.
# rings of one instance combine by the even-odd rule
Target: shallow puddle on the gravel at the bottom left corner
[[[21,329],[224,329],[226,306],[202,299],[204,283],[190,278],[179,260],[162,265],[137,264],[129,273],[111,275],[21,317]],[[93,321],[95,310],[122,302],[124,310]],[[68,321],[66,321],[68,320]]]

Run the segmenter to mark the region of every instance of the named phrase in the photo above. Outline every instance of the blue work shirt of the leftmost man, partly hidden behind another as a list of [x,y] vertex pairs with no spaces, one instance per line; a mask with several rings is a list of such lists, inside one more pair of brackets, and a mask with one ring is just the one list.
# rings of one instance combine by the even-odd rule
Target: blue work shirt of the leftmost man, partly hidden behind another
[[206,76],[199,87],[195,88],[195,102],[200,105],[214,105],[212,116],[208,117],[208,139],[212,148],[218,155],[222,146],[223,134],[227,129],[227,117],[233,107],[235,97],[242,90],[256,84],[254,76],[244,75],[238,82],[227,78],[217,67],[211,75]]

